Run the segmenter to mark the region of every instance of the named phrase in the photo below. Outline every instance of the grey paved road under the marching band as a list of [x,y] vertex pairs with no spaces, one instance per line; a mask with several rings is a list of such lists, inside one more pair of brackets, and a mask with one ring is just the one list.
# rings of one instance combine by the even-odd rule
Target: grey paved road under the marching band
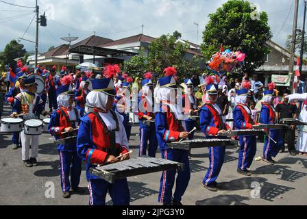
[[[5,106],[5,115],[9,108]],[[132,129],[130,145],[138,153],[138,127]],[[196,136],[201,136],[197,133]],[[73,194],[71,198],[62,198],[60,190],[59,156],[53,139],[47,133],[40,136],[39,166],[25,168],[21,160],[21,149],[10,148],[11,136],[0,134],[0,205],[88,205],[86,194]],[[262,143],[258,143],[257,156],[261,155]],[[307,157],[288,153],[278,155],[278,164],[268,166],[254,161],[251,166],[253,175],[245,177],[236,173],[238,162],[237,149],[228,149],[225,164],[218,181],[223,185],[219,192],[208,192],[201,181],[208,170],[208,149],[195,149],[191,162],[191,181],[184,194],[184,205],[307,205]],[[160,154],[157,153],[157,157]],[[161,172],[140,175],[128,179],[131,205],[160,205],[158,190]],[[46,198],[49,183],[55,185],[54,198]],[[47,187],[45,187],[47,185]],[[84,166],[80,186],[87,189]],[[260,185],[260,192],[251,185]],[[47,190],[47,194],[50,194]],[[257,196],[258,198],[252,198]],[[107,197],[111,204],[110,197]]]

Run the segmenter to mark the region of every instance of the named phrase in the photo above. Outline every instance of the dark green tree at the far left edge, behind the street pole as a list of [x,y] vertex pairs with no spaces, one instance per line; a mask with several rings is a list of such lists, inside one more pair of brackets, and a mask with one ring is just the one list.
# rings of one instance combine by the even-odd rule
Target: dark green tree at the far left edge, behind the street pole
[[0,64],[16,65],[14,59],[25,56],[27,51],[24,49],[23,44],[19,44],[16,40],[12,40],[5,46],[4,51],[0,53]]

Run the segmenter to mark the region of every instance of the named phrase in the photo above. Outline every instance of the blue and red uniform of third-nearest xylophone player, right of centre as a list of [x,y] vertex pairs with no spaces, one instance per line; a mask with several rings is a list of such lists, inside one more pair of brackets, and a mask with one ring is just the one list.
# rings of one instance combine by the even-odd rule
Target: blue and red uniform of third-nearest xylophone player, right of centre
[[[216,103],[205,103],[200,109],[200,128],[206,138],[217,138],[219,130],[228,129],[223,123],[221,109]],[[223,137],[218,137],[223,138]],[[223,166],[225,158],[225,146],[209,147],[209,169],[204,177],[203,184],[210,186],[215,183]]]

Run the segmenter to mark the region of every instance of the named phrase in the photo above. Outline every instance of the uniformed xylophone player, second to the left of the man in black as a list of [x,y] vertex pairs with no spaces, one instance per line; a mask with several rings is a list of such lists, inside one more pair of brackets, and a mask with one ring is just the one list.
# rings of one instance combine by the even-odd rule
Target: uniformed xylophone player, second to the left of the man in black
[[[252,129],[254,121],[251,118],[251,109],[247,105],[249,88],[251,84],[243,82],[241,90],[236,92],[236,107],[234,107],[234,129]],[[240,152],[238,154],[237,172],[242,175],[250,176],[249,168],[256,155],[257,139],[256,136],[239,136]]]

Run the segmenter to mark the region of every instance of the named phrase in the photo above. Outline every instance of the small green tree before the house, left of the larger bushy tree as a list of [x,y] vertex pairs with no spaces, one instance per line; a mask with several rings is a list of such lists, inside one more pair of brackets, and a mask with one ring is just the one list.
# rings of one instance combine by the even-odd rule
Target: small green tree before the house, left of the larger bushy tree
[[123,71],[134,78],[143,78],[143,75],[147,70],[148,64],[147,57],[144,55],[144,48],[140,49],[139,54],[132,57],[132,60],[125,61],[123,64]]

